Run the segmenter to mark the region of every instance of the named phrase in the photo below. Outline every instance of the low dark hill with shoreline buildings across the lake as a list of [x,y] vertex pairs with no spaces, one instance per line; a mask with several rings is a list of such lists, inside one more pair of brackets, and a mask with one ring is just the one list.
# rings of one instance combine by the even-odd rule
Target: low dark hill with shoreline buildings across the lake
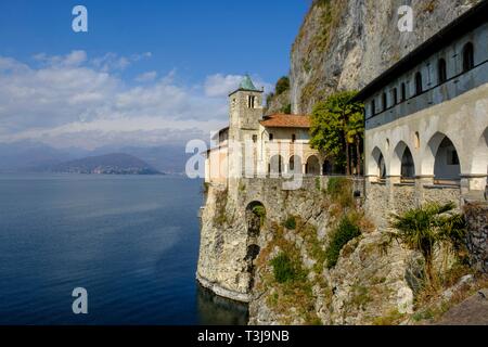
[[89,156],[55,165],[37,168],[37,171],[60,174],[98,174],[98,175],[158,175],[154,167],[133,155],[112,153]]

